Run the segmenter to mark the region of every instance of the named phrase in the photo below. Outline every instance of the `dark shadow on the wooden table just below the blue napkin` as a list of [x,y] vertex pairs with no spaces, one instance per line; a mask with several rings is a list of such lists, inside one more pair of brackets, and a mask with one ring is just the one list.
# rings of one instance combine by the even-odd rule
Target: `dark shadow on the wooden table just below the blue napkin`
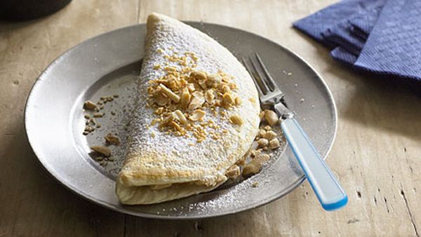
[[328,72],[346,81],[345,90],[350,90],[347,96],[351,97],[346,99],[347,104],[338,107],[341,118],[421,142],[420,83],[356,72],[333,60]]

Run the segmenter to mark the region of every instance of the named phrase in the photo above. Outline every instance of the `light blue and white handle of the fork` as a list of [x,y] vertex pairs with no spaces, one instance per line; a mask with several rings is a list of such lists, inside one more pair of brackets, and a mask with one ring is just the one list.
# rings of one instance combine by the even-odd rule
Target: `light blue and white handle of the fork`
[[281,128],[323,209],[336,210],[345,206],[347,194],[300,124],[295,118],[286,118],[281,122]]

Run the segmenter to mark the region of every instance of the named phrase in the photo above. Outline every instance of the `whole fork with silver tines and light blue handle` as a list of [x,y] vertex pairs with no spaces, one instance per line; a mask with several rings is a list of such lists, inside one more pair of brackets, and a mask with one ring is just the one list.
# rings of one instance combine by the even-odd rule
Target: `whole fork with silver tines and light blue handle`
[[281,89],[267,71],[258,53],[255,53],[254,58],[248,57],[249,62],[244,58],[242,61],[255,82],[262,106],[274,107],[276,114],[280,116],[283,135],[293,149],[323,209],[336,210],[345,206],[348,202],[347,194],[295,120],[293,111],[286,106]]

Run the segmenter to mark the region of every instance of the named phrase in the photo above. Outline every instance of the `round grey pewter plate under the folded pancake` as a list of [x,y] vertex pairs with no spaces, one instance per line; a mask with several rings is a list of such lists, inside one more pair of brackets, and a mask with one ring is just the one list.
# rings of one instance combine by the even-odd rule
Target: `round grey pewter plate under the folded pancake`
[[[288,106],[326,158],[335,139],[336,109],[326,83],[312,67],[290,50],[256,34],[221,25],[187,23],[212,36],[236,57],[259,53],[285,93]],[[114,194],[114,178],[123,162],[126,123],[145,51],[145,33],[142,24],[88,39],[58,57],[34,84],[25,110],[27,137],[41,164],[58,182],[93,203],[130,215],[196,219],[256,208],[288,194],[305,180],[286,147],[262,172],[247,180],[177,201],[121,205]],[[83,102],[96,102],[109,95],[119,97],[105,104],[105,116],[97,119],[101,128],[82,135]],[[103,136],[110,132],[117,133],[123,144],[112,146],[116,161],[102,167],[89,155],[89,147],[103,144]]]

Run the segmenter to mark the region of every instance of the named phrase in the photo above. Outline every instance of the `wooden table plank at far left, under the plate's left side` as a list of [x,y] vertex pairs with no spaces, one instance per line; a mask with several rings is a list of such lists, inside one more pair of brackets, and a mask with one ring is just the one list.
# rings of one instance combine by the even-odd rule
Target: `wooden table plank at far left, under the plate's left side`
[[29,22],[0,23],[0,236],[122,236],[124,216],[84,201],[37,163],[23,128],[37,76],[68,48],[136,22],[137,1],[73,1]]

